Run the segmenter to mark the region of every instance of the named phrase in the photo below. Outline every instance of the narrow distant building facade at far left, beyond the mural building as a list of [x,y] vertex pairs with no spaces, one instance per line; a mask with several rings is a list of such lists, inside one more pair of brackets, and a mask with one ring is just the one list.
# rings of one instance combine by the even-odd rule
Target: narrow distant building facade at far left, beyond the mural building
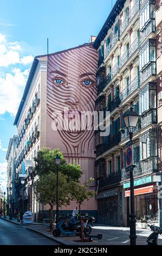
[[[16,182],[17,182],[17,174],[16,174],[16,140],[17,136],[14,135],[13,138],[10,138],[8,151],[6,155],[6,160],[8,162],[7,166],[7,214],[12,212],[12,216],[14,216],[14,210],[17,208],[17,198],[16,198]],[[10,209],[11,208],[11,209]]]

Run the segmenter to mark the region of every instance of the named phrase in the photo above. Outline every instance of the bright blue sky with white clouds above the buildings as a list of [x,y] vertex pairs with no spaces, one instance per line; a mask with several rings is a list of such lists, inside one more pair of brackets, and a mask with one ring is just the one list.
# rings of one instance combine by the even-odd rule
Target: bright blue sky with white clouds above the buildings
[[116,0],[0,0],[0,184],[16,134],[15,115],[34,56],[75,47],[98,35]]

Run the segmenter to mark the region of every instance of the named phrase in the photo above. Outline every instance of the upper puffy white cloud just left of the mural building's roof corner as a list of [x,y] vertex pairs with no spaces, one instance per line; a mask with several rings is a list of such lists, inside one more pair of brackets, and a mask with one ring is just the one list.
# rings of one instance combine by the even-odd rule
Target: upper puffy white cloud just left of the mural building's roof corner
[[9,42],[5,35],[0,34],[0,66],[23,64],[28,65],[33,61],[32,56],[21,56],[22,47],[17,41]]

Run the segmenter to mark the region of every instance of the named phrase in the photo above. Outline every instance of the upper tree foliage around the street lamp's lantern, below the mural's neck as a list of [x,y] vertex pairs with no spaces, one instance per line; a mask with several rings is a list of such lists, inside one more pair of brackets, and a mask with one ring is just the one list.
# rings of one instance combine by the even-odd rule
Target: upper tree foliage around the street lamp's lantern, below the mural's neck
[[59,172],[66,175],[67,180],[72,179],[74,181],[79,181],[81,175],[83,174],[79,164],[67,163],[60,149],[51,150],[49,148],[42,148],[40,151],[38,151],[37,156],[34,158],[36,161],[36,174],[41,176],[51,172],[56,173],[56,165],[54,161],[56,155],[61,157]]

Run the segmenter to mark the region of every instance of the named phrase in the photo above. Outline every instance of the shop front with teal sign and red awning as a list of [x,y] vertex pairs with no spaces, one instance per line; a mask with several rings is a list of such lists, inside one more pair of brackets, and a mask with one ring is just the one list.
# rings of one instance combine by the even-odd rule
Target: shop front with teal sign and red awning
[[[145,223],[150,220],[158,224],[158,187],[151,182],[152,176],[147,176],[134,181],[135,215],[137,227],[145,228]],[[129,225],[130,188],[129,182],[124,184],[127,205],[127,226]]]

